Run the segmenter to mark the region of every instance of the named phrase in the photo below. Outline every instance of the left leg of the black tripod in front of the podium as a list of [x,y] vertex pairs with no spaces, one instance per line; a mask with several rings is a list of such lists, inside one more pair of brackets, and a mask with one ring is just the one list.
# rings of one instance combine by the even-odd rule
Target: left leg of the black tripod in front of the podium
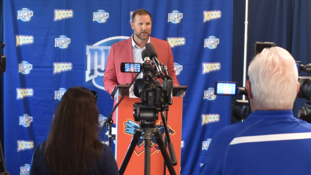
[[133,151],[134,151],[141,135],[142,135],[142,130],[136,129],[134,132],[133,138],[131,140],[131,143],[128,146],[128,150],[126,151],[126,154],[125,154],[123,161],[121,163],[121,166],[119,168],[120,175],[124,174],[125,169],[128,166],[128,162],[130,161],[130,158],[132,157]]

